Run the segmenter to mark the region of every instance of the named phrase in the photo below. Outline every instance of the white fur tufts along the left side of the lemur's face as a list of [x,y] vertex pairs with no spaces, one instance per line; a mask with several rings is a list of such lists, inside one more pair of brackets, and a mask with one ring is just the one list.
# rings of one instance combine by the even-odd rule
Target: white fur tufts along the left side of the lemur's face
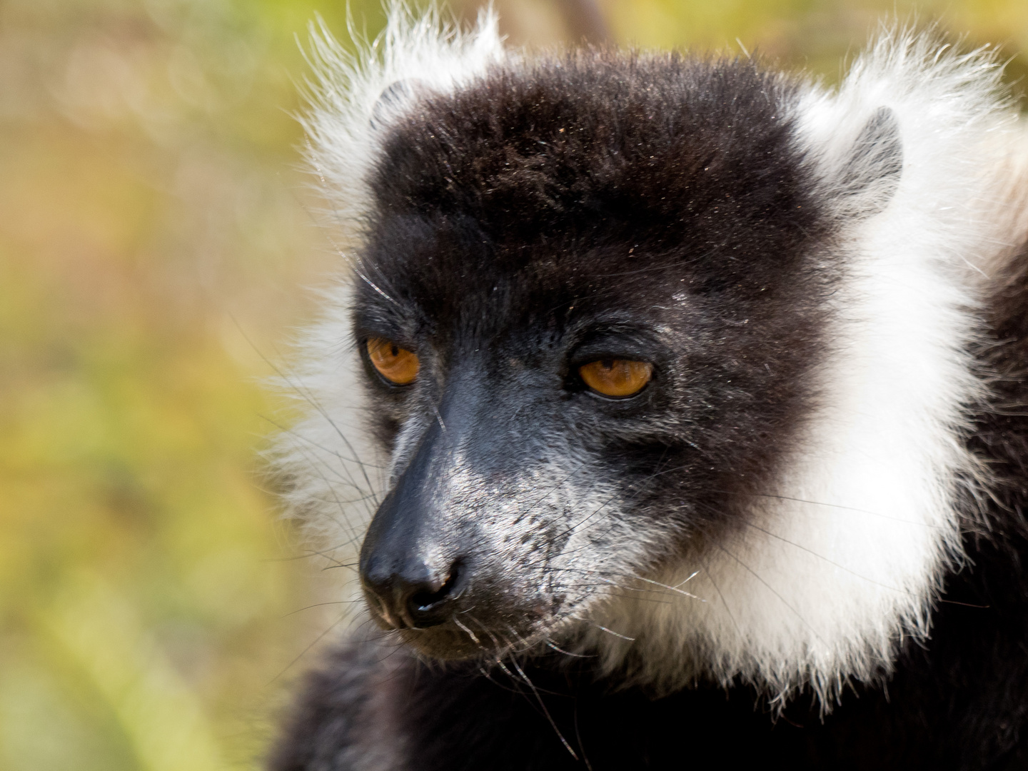
[[[311,29],[316,80],[314,105],[303,119],[308,162],[330,204],[330,224],[345,235],[360,227],[370,199],[366,179],[383,132],[372,127],[382,91],[415,79],[419,87],[446,93],[484,74],[507,57],[491,10],[462,33],[431,10],[415,16],[401,1],[390,6],[389,24],[357,56],[348,53],[324,26]],[[396,119],[396,110],[376,118]],[[346,257],[341,254],[340,256]],[[297,344],[298,365],[284,378],[305,415],[279,440],[277,465],[293,482],[290,511],[302,516],[330,558],[352,563],[388,480],[383,458],[364,431],[357,357],[351,350],[350,287],[325,293],[323,317]],[[360,463],[359,463],[360,462]]]

